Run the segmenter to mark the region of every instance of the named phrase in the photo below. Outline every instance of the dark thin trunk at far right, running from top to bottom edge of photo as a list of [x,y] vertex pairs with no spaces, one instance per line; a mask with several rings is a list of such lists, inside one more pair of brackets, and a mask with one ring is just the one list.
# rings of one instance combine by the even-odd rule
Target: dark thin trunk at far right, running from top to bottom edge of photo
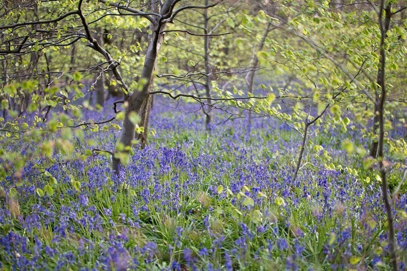
[[[385,19],[383,21],[383,13],[385,13]],[[396,256],[396,241],[394,238],[394,225],[393,225],[393,213],[391,209],[390,198],[387,191],[387,176],[386,176],[386,162],[384,160],[384,110],[385,110],[385,99],[386,99],[386,84],[385,84],[385,67],[386,67],[386,34],[390,26],[391,19],[391,4],[387,4],[385,7],[385,0],[381,1],[380,11],[379,11],[379,25],[380,25],[380,87],[381,87],[381,97],[378,105],[379,109],[379,144],[377,150],[377,156],[380,166],[380,174],[382,176],[382,194],[383,201],[385,203],[387,212],[387,221],[389,224],[389,254],[390,261],[392,263],[393,270],[397,270],[397,256]]]

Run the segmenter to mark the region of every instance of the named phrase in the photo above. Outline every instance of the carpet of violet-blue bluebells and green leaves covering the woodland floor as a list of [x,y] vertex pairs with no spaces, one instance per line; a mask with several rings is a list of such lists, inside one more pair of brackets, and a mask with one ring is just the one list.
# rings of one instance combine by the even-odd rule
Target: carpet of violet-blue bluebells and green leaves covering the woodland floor
[[[202,116],[155,107],[156,136],[134,150],[119,176],[108,155],[86,152],[114,149],[119,131],[103,129],[74,142],[83,154],[76,159],[54,152],[28,159],[21,176],[9,171],[0,183],[0,269],[390,268],[380,183],[362,158],[340,147],[344,138],[362,142],[358,129],[311,135],[342,167],[325,169],[312,155],[293,181],[301,136],[278,121],[254,118],[247,133],[245,118],[219,116],[209,135]],[[38,148],[30,141],[2,145],[27,157]],[[393,210],[400,269],[406,212],[400,193]]]

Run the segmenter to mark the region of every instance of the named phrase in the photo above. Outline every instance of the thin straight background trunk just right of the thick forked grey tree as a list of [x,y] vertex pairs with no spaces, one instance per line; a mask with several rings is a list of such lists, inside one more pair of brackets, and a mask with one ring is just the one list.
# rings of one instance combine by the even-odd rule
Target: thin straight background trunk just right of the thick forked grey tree
[[[208,6],[209,0],[205,0],[205,6]],[[203,108],[203,111],[206,114],[206,121],[205,121],[205,127],[207,131],[211,130],[211,110],[212,110],[212,100],[211,100],[211,67],[209,64],[209,46],[210,46],[210,39],[209,39],[209,18],[208,18],[208,9],[205,9],[203,11],[203,28],[205,28],[205,39],[203,41],[203,47],[204,47],[204,54],[205,54],[205,94],[207,96],[207,105],[206,108]]]

